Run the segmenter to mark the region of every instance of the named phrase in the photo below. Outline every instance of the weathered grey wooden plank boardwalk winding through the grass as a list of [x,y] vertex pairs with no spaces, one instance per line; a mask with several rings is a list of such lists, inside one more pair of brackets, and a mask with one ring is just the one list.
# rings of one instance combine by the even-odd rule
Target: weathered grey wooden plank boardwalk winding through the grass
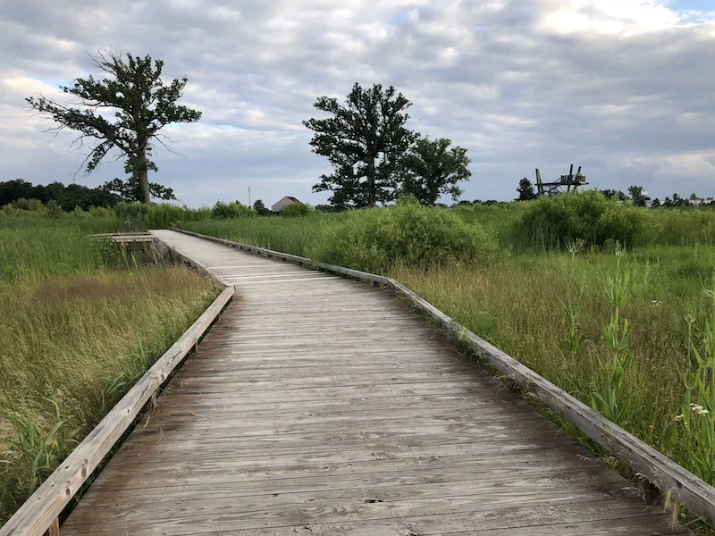
[[63,535],[685,532],[387,292],[155,235],[236,297]]

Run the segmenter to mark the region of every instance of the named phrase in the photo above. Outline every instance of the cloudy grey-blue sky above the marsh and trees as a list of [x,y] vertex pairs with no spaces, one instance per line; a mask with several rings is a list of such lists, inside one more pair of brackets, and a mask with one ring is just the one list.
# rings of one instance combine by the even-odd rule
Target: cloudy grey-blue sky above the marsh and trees
[[[82,153],[22,103],[92,70],[98,47],[164,59],[184,104],[150,178],[187,205],[317,204],[329,171],[301,121],[315,97],[394,85],[411,126],[467,147],[467,199],[582,165],[592,186],[715,196],[712,0],[3,0],[0,180],[71,182]],[[76,180],[122,176],[109,159]]]

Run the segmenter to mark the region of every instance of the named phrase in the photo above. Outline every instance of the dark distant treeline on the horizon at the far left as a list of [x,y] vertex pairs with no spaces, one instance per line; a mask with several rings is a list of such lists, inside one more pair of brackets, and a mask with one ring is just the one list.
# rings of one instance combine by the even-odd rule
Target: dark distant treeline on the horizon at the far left
[[43,204],[54,201],[64,211],[74,210],[79,206],[82,210],[89,210],[93,206],[114,206],[122,197],[101,188],[87,188],[79,184],[52,182],[47,186],[38,184],[33,186],[26,180],[7,180],[0,182],[0,206],[10,205],[18,199],[38,199]]

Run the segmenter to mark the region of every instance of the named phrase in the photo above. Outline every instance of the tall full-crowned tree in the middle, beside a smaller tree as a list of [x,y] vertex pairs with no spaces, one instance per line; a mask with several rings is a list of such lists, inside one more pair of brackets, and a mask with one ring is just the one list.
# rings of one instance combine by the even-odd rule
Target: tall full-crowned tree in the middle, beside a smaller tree
[[416,138],[405,127],[410,105],[395,88],[383,89],[381,84],[362,88],[356,82],[345,104],[319,97],[314,106],[329,117],[303,124],[314,132],[313,152],[327,157],[333,172],[322,175],[313,190],[331,190],[336,208],[394,199],[402,156]]

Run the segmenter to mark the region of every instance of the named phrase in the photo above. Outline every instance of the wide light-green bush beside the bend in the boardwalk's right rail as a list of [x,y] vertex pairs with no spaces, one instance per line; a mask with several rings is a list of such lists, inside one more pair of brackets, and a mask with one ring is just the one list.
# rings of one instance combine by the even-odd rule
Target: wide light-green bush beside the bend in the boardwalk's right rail
[[410,199],[348,214],[307,253],[324,263],[380,273],[397,264],[482,262],[496,249],[495,239],[481,225]]

